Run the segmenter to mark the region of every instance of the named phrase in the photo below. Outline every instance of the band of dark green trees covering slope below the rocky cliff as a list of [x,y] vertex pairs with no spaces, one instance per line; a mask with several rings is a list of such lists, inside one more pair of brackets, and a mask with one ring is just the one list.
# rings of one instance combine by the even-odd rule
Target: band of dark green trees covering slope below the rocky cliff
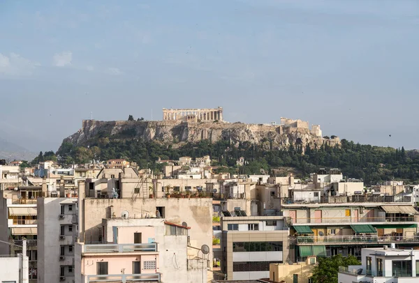
[[[268,146],[266,146],[268,143]],[[177,160],[181,156],[191,158],[210,155],[219,165],[218,171],[230,171],[240,174],[260,174],[260,169],[274,172],[278,167],[293,167],[301,178],[307,178],[310,173],[319,167],[339,168],[344,176],[360,178],[367,185],[380,183],[392,179],[404,180],[408,183],[419,181],[419,155],[415,151],[406,152],[404,148],[384,148],[341,141],[341,146],[330,147],[323,145],[320,148],[303,148],[291,144],[288,148],[269,148],[268,141],[260,144],[241,142],[233,146],[228,141],[210,143],[207,140],[198,143],[187,143],[179,148],[172,145],[163,145],[153,141],[141,139],[109,139],[103,137],[95,139],[89,146],[74,146],[64,142],[57,155],[61,162],[67,164],[84,163],[89,160],[108,160],[124,158],[137,162],[141,168],[161,170],[162,165],[156,164],[160,157],[162,160]],[[247,165],[240,168],[236,160],[244,157]]]

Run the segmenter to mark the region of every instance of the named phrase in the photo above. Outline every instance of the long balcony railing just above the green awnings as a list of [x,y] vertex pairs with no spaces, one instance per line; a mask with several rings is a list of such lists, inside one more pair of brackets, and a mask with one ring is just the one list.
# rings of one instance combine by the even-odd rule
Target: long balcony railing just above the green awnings
[[291,218],[293,224],[306,223],[365,223],[365,222],[418,222],[419,217],[321,217],[321,218]]

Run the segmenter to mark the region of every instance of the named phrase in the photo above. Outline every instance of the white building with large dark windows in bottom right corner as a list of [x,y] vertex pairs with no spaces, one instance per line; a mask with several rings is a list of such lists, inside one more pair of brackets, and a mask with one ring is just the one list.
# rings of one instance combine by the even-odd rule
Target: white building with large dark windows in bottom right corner
[[362,265],[339,267],[338,282],[413,283],[419,281],[419,250],[395,245],[362,249]]

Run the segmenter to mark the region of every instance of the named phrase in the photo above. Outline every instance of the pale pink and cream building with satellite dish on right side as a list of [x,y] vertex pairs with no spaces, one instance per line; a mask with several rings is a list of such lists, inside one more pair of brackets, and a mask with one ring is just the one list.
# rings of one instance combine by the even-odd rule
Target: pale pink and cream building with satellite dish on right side
[[189,245],[190,229],[159,218],[104,219],[103,243],[75,246],[75,282],[206,282],[210,261]]

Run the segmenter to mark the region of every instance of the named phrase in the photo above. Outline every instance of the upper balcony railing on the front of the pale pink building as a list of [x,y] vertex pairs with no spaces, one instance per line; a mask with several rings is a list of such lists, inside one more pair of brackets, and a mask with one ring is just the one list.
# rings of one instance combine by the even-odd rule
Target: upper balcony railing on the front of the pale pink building
[[157,252],[157,244],[98,244],[84,245],[83,252],[108,253],[108,252]]

